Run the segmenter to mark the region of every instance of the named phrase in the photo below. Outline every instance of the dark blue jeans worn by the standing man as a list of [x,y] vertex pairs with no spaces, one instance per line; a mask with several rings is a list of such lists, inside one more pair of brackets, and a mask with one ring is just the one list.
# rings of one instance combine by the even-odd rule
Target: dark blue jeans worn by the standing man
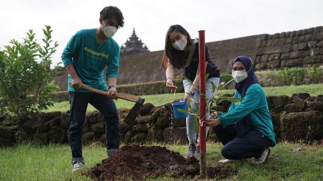
[[81,161],[84,163],[82,156],[82,140],[85,115],[88,103],[99,110],[105,120],[105,136],[107,150],[119,148],[120,129],[119,113],[113,99],[106,95],[97,93],[85,93],[70,91],[70,145],[72,150],[72,164]]

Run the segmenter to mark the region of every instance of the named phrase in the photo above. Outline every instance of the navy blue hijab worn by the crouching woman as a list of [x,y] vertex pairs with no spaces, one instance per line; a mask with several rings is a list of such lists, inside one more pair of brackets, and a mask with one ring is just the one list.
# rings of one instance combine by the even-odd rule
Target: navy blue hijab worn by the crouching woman
[[[240,83],[236,83],[234,86],[234,88],[241,94],[241,98],[243,98],[245,96],[249,86],[251,86],[253,84],[257,84],[258,79],[257,79],[256,75],[254,74],[254,66],[253,66],[251,58],[249,58],[247,56],[238,56],[233,60],[232,67],[233,67],[234,63],[237,61],[240,61],[243,64],[245,70],[248,73],[248,77],[244,81],[242,81]],[[241,100],[241,101],[243,101],[243,100]],[[236,128],[237,128],[237,136],[238,137],[245,136],[249,131],[249,115],[247,115],[246,117],[239,120],[236,124]]]

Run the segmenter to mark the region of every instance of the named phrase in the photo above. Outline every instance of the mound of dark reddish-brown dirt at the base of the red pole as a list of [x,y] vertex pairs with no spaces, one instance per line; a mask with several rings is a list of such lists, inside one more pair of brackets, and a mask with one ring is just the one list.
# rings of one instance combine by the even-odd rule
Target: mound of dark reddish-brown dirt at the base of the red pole
[[[179,152],[160,146],[126,145],[110,158],[102,160],[91,168],[86,176],[94,180],[142,180],[144,178],[172,177],[192,179],[199,174],[196,158],[185,159]],[[210,178],[227,178],[232,175],[228,169],[208,167]]]

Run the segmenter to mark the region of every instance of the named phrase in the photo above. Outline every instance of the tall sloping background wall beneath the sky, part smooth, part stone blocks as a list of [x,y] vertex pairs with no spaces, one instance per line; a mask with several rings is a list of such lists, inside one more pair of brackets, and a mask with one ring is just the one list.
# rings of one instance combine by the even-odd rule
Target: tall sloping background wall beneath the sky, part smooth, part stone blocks
[[[321,26],[274,35],[263,34],[210,42],[207,45],[211,59],[221,72],[230,73],[231,62],[239,55],[251,57],[256,70],[323,64],[323,27]],[[162,56],[163,50],[121,55],[118,85],[164,80]],[[180,77],[181,74],[182,71],[176,70],[175,77]],[[64,68],[53,79],[61,90],[67,90],[67,73]]]

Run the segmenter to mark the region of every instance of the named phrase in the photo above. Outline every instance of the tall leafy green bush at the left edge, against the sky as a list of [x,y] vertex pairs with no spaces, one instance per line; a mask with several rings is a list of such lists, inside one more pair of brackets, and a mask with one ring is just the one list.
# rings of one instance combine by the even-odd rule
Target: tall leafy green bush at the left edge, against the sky
[[51,45],[50,26],[43,29],[44,46],[36,42],[33,30],[29,30],[23,43],[11,40],[0,51],[0,107],[1,114],[20,116],[39,112],[53,105],[50,94],[58,86],[51,77],[56,69],[50,70],[51,56],[57,42]]

